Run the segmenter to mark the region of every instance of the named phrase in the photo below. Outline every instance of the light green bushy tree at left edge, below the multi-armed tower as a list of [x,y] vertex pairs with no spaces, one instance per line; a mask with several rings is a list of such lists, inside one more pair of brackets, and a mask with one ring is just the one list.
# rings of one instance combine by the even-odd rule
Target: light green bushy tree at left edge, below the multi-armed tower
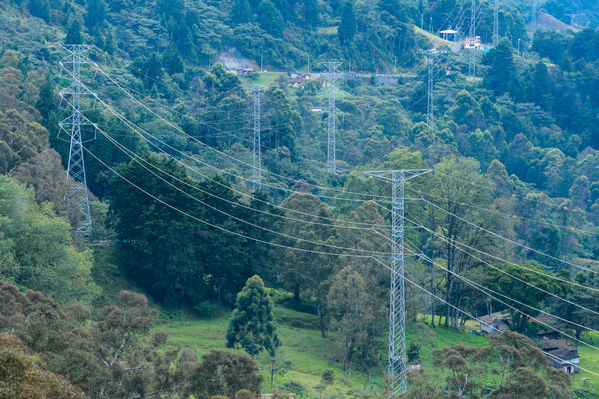
[[77,251],[70,226],[33,190],[0,176],[0,278],[43,291],[61,303],[91,303],[100,288],[91,277],[91,252]]

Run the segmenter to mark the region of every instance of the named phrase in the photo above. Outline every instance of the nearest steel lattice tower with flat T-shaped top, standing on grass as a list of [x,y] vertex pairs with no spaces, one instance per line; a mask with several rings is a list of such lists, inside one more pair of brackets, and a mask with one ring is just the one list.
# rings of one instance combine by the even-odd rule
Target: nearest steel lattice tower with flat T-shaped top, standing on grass
[[382,170],[364,172],[392,183],[391,289],[389,293],[389,398],[406,392],[406,298],[405,298],[405,182],[432,172],[432,169]]

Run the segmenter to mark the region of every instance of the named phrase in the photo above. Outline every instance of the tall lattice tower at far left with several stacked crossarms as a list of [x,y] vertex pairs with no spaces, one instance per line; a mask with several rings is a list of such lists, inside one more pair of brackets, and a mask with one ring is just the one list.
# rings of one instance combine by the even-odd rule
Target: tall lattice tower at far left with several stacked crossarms
[[76,211],[81,218],[76,234],[85,237],[92,232],[92,220],[89,211],[89,195],[83,156],[83,143],[85,141],[82,137],[81,127],[93,126],[95,130],[96,125],[81,113],[81,97],[85,95],[94,96],[94,93],[81,83],[81,65],[91,63],[85,56],[91,46],[66,44],[62,47],[69,52],[69,55],[60,61],[60,66],[72,79],[71,86],[60,93],[63,100],[68,101],[72,109],[71,115],[59,123],[61,131],[66,132],[70,137],[67,183],[71,184],[71,188],[65,201],[72,199],[73,202],[76,202]]

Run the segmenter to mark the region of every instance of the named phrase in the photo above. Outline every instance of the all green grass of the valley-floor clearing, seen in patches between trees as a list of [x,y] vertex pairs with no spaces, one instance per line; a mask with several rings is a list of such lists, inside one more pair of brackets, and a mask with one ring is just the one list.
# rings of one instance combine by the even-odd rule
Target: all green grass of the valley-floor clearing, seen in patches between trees
[[[103,295],[98,305],[116,303],[118,292],[121,289],[141,291],[131,284],[115,266],[115,251],[113,248],[101,246],[94,247],[96,265],[92,270],[95,281],[102,287]],[[288,296],[288,295],[287,295]],[[320,336],[318,320],[313,314],[311,304],[302,304],[302,311],[288,307],[286,295],[275,293],[275,319],[278,332],[283,343],[281,352],[291,361],[290,370],[275,377],[275,387],[282,386],[290,381],[300,383],[306,388],[305,397],[318,397],[314,389],[320,383],[320,377],[326,369],[332,369],[335,374],[335,383],[326,391],[326,397],[344,396],[348,391],[354,392],[379,392],[383,389],[383,376],[386,369],[386,340],[383,337],[379,343],[378,356],[380,366],[372,370],[371,376],[364,372],[352,370],[346,374],[341,369],[337,358],[341,357],[336,346],[338,339],[324,339]],[[212,349],[225,349],[225,332],[230,316],[230,309],[217,307],[216,317],[211,319],[198,318],[182,311],[163,311],[161,321],[155,328],[156,331],[165,331],[168,336],[168,345],[172,348],[183,347],[195,352],[198,356],[208,353]],[[423,321],[430,321],[423,318]],[[406,339],[408,345],[413,340],[423,343],[420,358],[425,370],[430,370],[433,361],[433,351],[437,348],[446,348],[455,344],[482,347],[487,339],[471,334],[472,329],[478,326],[467,323],[467,331],[458,331],[445,328],[430,328],[424,323],[408,324]],[[584,339],[592,345],[599,344],[599,334],[587,335]],[[241,351],[239,351],[241,353]],[[592,371],[599,371],[599,352],[593,348],[579,345],[581,366]],[[497,365],[495,365],[497,366]],[[265,393],[270,391],[269,376],[263,370]],[[583,378],[588,378],[584,382]],[[490,373],[489,382],[495,377]],[[599,392],[599,377],[592,373],[582,371],[572,377],[573,388],[585,384],[590,389]]]

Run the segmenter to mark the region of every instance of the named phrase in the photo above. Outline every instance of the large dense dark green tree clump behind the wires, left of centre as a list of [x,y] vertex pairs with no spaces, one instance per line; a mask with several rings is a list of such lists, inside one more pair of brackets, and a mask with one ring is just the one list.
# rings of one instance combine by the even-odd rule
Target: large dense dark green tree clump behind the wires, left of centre
[[152,155],[131,161],[120,173],[139,187],[132,190],[129,183],[118,179],[110,193],[122,264],[131,277],[169,304],[195,304],[208,297],[232,302],[250,275],[248,243],[199,220],[241,233],[238,221],[215,209],[229,214],[239,210],[194,190],[197,187],[234,202],[236,197],[227,184],[222,179],[196,182],[175,161]]

